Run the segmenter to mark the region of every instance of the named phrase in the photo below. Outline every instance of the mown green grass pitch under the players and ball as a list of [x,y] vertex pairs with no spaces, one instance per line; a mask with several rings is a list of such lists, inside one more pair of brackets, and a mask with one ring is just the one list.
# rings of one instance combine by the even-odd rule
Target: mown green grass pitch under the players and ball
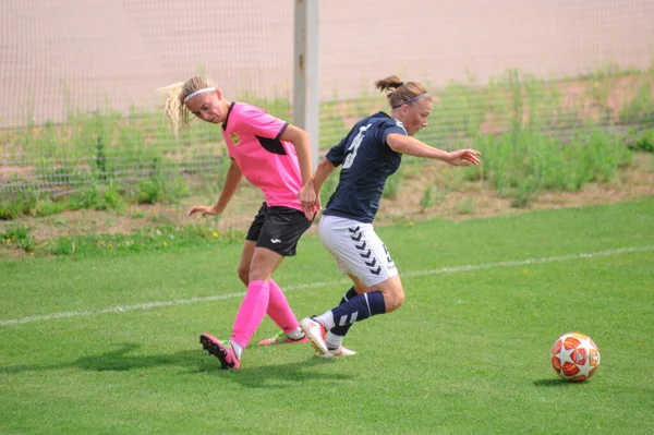
[[[654,198],[377,230],[407,301],[355,357],[250,348],[234,372],[198,335],[231,329],[240,245],[0,263],[0,433],[652,433]],[[276,280],[301,317],[349,287],[316,237]],[[549,364],[572,330],[602,354],[581,385]]]

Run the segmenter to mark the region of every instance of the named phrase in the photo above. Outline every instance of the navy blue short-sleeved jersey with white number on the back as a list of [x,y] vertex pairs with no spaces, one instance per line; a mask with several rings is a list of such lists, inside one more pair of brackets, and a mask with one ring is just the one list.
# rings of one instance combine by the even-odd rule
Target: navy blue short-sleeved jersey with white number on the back
[[329,153],[327,159],[342,165],[336,191],[324,215],[371,223],[388,176],[398,170],[402,155],[386,144],[390,133],[407,134],[402,123],[384,112],[362,119]]

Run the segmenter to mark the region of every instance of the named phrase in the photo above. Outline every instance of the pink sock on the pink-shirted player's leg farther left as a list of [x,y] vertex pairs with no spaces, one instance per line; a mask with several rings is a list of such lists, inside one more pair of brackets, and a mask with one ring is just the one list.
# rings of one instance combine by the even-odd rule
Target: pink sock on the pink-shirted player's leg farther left
[[247,292],[241,302],[239,313],[237,313],[230,340],[238,342],[243,349],[247,347],[254,331],[266,315],[269,298],[270,291],[265,281],[251,281],[247,285]]

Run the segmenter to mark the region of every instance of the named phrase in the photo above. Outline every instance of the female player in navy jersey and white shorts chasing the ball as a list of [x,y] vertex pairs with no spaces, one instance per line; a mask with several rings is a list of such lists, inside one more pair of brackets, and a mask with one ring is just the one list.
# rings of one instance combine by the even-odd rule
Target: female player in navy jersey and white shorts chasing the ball
[[359,121],[320,161],[314,177],[319,193],[324,181],[341,166],[336,191],[319,223],[320,241],[354,286],[340,305],[300,324],[320,357],[354,354],[342,340],[354,322],[390,313],[404,301],[393,261],[373,228],[386,179],[398,170],[402,155],[441,160],[453,166],[480,162],[474,149],[445,152],[413,137],[427,125],[432,97],[415,82],[392,75],[375,83],[387,93],[390,116],[378,112]]

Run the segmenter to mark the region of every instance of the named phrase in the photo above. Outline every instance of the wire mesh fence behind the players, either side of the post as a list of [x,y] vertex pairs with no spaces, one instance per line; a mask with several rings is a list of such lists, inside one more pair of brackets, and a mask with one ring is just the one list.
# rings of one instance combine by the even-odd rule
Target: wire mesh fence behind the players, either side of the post
[[[291,121],[293,7],[3,1],[0,195],[217,171],[219,129],[174,140],[155,89],[206,73]],[[323,0],[319,46],[322,149],[386,107],[373,83],[390,74],[438,95],[420,138],[439,147],[518,124],[654,124],[650,0]]]

